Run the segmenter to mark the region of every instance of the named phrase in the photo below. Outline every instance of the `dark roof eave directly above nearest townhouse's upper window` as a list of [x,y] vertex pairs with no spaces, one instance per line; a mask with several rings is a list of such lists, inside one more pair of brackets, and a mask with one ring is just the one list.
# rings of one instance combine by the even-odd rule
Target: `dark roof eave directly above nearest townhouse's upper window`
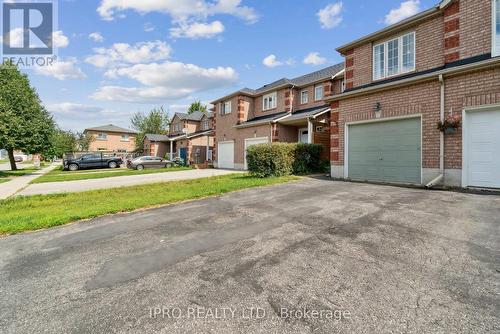
[[432,17],[433,15],[439,14],[444,8],[446,8],[452,2],[453,2],[453,0],[439,1],[439,3],[437,5],[431,7],[423,12],[417,13],[413,16],[410,16],[409,18],[406,18],[406,19],[400,21],[400,22],[394,23],[394,24],[392,24],[388,27],[385,27],[383,29],[380,29],[374,33],[371,33],[371,34],[365,35],[361,38],[358,38],[352,42],[349,42],[345,45],[338,47],[336,50],[341,54],[345,54],[347,51],[349,51],[350,49],[352,49],[356,46],[370,43],[370,42],[373,42],[375,40],[382,39],[388,35],[394,34],[395,32],[397,32],[399,30],[407,29],[411,26],[414,26],[415,24],[417,24],[420,21],[427,20],[428,18]]

